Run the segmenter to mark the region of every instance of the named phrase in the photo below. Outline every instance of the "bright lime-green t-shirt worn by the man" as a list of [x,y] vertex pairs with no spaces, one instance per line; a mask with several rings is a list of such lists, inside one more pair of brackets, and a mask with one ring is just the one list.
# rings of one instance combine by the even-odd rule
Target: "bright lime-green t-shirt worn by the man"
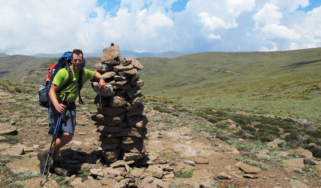
[[[82,86],[85,84],[85,82],[87,82],[87,80],[89,80],[95,76],[94,71],[91,71],[88,69],[83,69],[83,70],[84,70],[84,72],[82,75]],[[74,70],[73,70],[73,75],[74,75],[73,81],[78,81],[79,72],[74,72]],[[62,87],[67,82],[67,80],[68,80],[68,71],[67,71],[67,69],[62,68],[57,72],[52,83]],[[71,93],[68,95],[69,103],[74,102],[78,97],[78,83],[71,83],[66,88],[64,88],[60,92],[56,93],[57,99],[62,100],[62,98],[63,98],[62,93],[66,93],[67,91],[71,91]]]

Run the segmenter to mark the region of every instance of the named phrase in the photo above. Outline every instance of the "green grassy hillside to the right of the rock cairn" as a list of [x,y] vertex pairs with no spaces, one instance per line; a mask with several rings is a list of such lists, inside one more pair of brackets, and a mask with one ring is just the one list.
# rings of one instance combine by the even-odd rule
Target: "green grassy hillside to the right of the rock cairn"
[[321,122],[321,48],[203,52],[137,58],[144,94],[199,108],[243,110]]

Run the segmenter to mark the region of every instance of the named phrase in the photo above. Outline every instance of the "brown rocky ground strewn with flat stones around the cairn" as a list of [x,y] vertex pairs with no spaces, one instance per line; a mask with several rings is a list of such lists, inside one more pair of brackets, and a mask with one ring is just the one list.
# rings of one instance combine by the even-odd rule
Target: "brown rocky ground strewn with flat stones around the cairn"
[[[41,175],[36,173],[39,172],[37,153],[49,146],[51,137],[47,136],[46,109],[39,108],[36,97],[10,94],[0,89],[0,186],[13,187],[19,183],[39,186]],[[134,165],[131,164],[133,161],[121,159],[106,164],[97,150],[99,133],[91,121],[92,113],[85,106],[78,107],[74,138],[61,150],[61,160],[70,175],[51,175],[47,181],[44,179],[44,187],[321,186],[321,161],[308,150],[275,150],[277,155],[271,155],[271,151],[278,147],[278,140],[275,140],[268,143],[271,149],[257,152],[251,161],[237,160],[243,156],[242,151],[219,139],[209,140],[208,133],[188,126],[195,123],[212,126],[210,122],[181,114],[171,117],[177,126],[164,126],[164,116],[169,114],[155,110],[147,114],[144,160]],[[18,136],[18,143],[6,140],[5,135],[10,134]],[[297,157],[280,160],[282,165],[268,163],[271,158],[293,153]],[[34,175],[30,178],[22,178],[22,175],[32,173]]]

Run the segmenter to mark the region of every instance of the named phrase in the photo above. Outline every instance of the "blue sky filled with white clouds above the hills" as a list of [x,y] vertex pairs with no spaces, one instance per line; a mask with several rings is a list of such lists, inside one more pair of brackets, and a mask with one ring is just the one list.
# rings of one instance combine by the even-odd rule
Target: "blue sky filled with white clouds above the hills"
[[321,47],[320,0],[0,0],[0,52]]

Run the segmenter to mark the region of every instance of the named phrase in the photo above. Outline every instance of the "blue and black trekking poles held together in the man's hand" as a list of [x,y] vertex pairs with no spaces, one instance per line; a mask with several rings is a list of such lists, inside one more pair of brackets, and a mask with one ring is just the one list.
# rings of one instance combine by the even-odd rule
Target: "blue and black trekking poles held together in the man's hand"
[[[65,105],[66,102],[68,102],[67,97],[68,97],[68,95],[70,93],[71,93],[71,91],[67,91],[65,93],[65,95],[64,95],[64,97],[62,99],[62,103],[64,105]],[[63,113],[61,113],[60,116],[58,117],[57,124],[56,124],[56,127],[55,127],[55,131],[54,131],[54,134],[53,134],[53,137],[52,137],[52,141],[51,141],[51,144],[50,144],[49,151],[51,151],[52,143],[54,143],[54,147],[52,149],[51,156],[50,156],[50,161],[49,161],[49,165],[48,165],[48,171],[47,171],[47,175],[46,175],[46,180],[48,180],[48,177],[51,175],[49,173],[49,169],[50,169],[51,160],[52,160],[52,157],[53,157],[53,154],[54,154],[54,150],[55,150],[55,146],[56,146],[57,131],[60,129],[62,116],[63,116]],[[41,177],[41,180],[40,180],[40,186],[41,186],[41,183],[42,183],[43,176],[45,175],[45,169],[46,169],[46,166],[48,164],[48,160],[49,160],[49,154],[48,154],[48,157],[47,157],[47,160],[46,160],[46,164],[45,164],[45,167],[44,167],[44,170],[43,170],[43,173],[42,173],[42,177]]]

